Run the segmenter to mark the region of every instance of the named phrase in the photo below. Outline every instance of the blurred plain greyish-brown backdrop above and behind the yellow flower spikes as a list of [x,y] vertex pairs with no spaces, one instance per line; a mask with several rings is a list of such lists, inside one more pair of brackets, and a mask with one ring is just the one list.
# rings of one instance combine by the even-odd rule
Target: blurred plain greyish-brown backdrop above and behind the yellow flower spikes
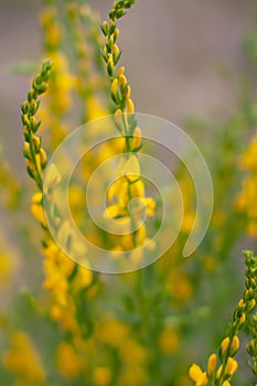
[[[104,19],[113,0],[89,3]],[[0,143],[18,170],[24,169],[20,103],[30,76],[11,68],[42,58],[41,9],[41,1],[0,2]],[[192,115],[206,121],[233,115],[245,66],[242,43],[256,18],[253,0],[138,0],[120,36],[136,109],[182,127]]]

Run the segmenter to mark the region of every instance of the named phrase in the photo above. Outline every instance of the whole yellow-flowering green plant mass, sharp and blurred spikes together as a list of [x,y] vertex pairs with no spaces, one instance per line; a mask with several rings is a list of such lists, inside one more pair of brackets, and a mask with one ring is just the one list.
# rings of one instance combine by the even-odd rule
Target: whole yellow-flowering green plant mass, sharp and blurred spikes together
[[[146,149],[161,159],[164,124],[136,112],[120,65],[118,25],[133,3],[115,1],[101,23],[78,0],[61,7],[46,1],[41,15],[47,58],[21,104],[23,156],[35,186],[18,182],[3,159],[0,164],[2,207],[19,224],[18,251],[3,230],[1,237],[0,286],[10,300],[0,311],[4,385],[257,382],[257,257],[248,250],[245,288],[229,319],[238,280],[244,282],[238,242],[244,236],[244,243],[256,247],[257,139],[251,127],[257,117],[249,112],[254,100],[248,100],[248,109],[239,106],[219,130],[210,130],[215,146],[205,143],[203,152],[218,199],[205,235],[211,180],[204,158],[188,137],[176,142],[171,133],[181,131],[165,131],[164,142],[175,143],[176,158],[183,158],[157,172],[152,169],[161,174],[173,168],[179,199],[173,185],[156,194],[158,183],[143,176],[143,170],[154,164],[148,158],[146,169],[141,153]],[[85,129],[74,130],[82,125]],[[150,136],[152,127],[157,137]],[[243,127],[246,140],[251,138],[247,146],[239,140]],[[105,141],[96,141],[97,136]],[[158,136],[154,147],[151,140],[157,142]],[[189,143],[185,154],[183,146],[188,151]],[[191,173],[192,149],[203,174]],[[85,186],[90,194],[85,195]],[[195,186],[202,186],[196,193],[206,210],[200,217]],[[100,208],[95,217],[93,207]],[[193,232],[195,246],[185,259],[184,245]],[[206,356],[203,371],[194,362],[203,366]]]

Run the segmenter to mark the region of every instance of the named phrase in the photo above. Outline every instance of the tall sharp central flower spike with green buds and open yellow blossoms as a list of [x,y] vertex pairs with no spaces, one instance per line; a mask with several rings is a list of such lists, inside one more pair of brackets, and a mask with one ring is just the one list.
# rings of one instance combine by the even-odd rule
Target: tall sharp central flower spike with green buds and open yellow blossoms
[[[141,148],[141,130],[137,126],[131,88],[125,76],[125,67],[116,68],[121,52],[117,45],[119,30],[115,21],[124,14],[124,8],[129,7],[131,7],[129,3],[115,2],[113,10],[109,12],[109,23],[104,21],[101,24],[101,31],[107,39],[103,57],[111,81],[110,96],[116,105],[115,124],[125,138],[125,154],[119,162],[116,180],[107,192],[107,199],[111,204],[107,206],[105,213],[105,216],[109,216],[119,223],[129,224],[127,234],[118,237],[116,250],[117,248],[130,250],[143,245],[147,239],[147,229],[144,224],[141,224],[141,216],[143,212],[148,216],[152,216],[156,208],[154,201],[144,196],[144,184],[140,175],[137,152]],[[128,206],[133,199],[139,199],[138,205],[129,213]]]

